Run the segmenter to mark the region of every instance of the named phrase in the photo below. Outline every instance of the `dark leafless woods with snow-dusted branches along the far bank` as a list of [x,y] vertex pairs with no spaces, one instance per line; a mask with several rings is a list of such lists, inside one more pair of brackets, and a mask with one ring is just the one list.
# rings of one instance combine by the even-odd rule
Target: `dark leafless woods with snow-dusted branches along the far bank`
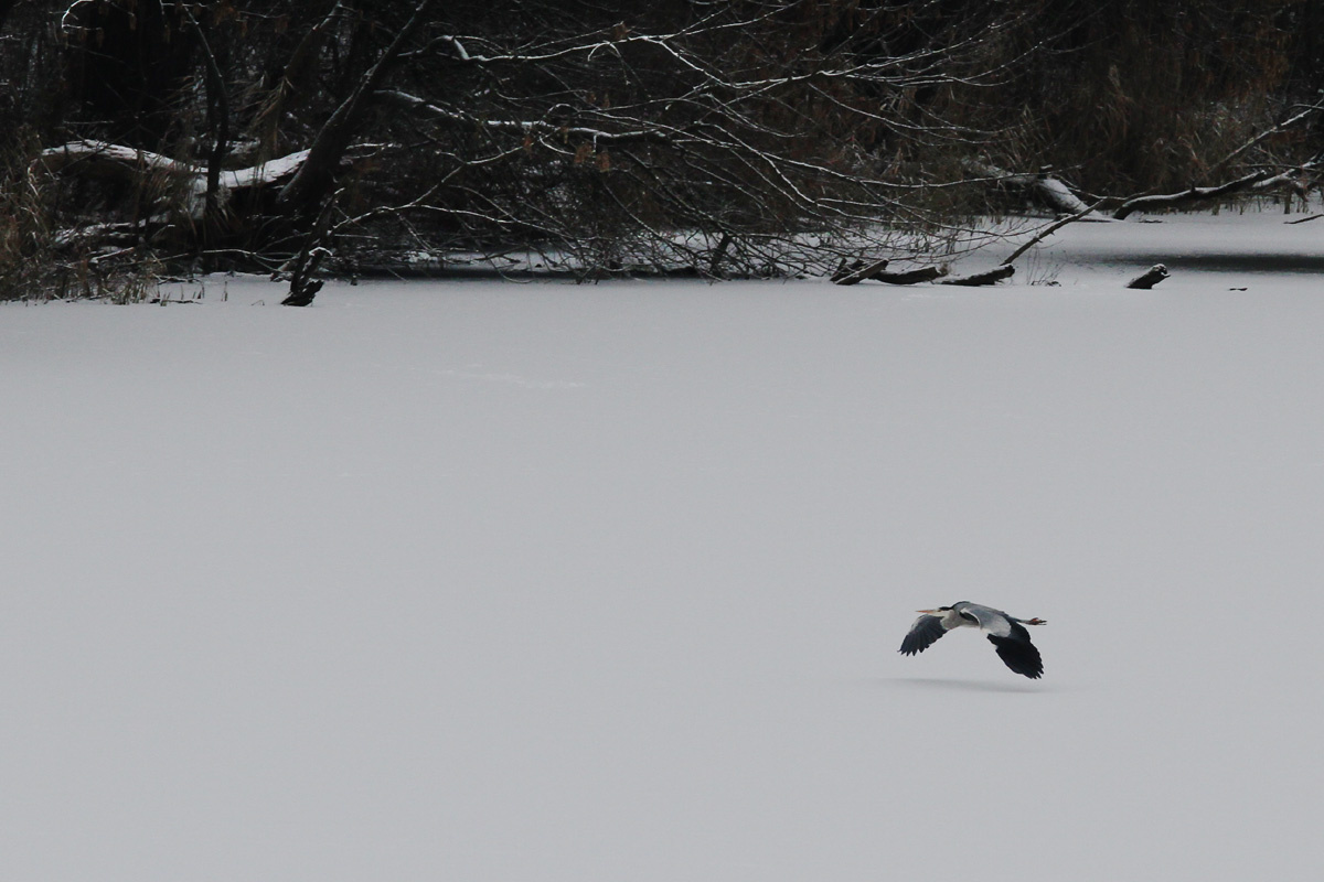
[[1320,0],[0,0],[0,53],[11,298],[528,251],[777,275],[1034,206],[1026,176],[1290,194],[1324,147]]

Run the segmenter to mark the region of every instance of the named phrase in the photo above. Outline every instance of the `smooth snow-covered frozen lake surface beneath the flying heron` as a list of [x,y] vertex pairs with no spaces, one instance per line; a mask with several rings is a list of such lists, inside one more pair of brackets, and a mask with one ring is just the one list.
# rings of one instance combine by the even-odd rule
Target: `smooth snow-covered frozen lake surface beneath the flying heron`
[[[0,307],[0,878],[1312,878],[1324,288],[1121,227]],[[963,599],[1045,678],[896,653]]]

